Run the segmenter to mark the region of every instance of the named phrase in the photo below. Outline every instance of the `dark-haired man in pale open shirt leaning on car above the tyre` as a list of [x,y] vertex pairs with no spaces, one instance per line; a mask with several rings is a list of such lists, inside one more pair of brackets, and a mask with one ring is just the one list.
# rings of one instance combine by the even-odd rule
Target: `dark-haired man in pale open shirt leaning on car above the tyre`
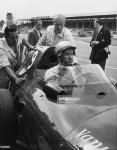
[[16,25],[7,26],[0,40],[0,88],[8,88],[10,80],[17,84],[21,81],[14,73],[21,66],[21,43]]

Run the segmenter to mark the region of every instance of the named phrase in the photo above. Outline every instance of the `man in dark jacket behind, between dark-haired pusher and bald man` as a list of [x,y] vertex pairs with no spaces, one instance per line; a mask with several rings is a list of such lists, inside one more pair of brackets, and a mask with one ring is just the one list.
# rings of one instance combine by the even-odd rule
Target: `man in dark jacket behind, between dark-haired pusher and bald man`
[[40,37],[42,36],[41,31],[40,31],[41,28],[42,28],[42,21],[35,20],[34,28],[28,34],[28,42],[31,45],[36,46],[36,44],[38,43]]

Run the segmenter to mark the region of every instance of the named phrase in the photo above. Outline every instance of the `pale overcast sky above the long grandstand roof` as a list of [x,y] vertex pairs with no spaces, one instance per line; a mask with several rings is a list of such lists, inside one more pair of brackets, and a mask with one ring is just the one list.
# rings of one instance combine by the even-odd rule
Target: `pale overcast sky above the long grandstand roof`
[[0,0],[0,20],[5,20],[8,12],[21,19],[112,11],[117,12],[117,0]]

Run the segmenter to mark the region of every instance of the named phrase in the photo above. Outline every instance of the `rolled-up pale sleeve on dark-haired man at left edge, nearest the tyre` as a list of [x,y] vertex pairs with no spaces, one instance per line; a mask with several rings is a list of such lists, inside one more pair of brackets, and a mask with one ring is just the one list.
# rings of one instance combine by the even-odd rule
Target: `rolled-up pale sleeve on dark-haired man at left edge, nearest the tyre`
[[0,69],[2,69],[5,66],[10,66],[10,62],[5,52],[2,49],[0,49]]

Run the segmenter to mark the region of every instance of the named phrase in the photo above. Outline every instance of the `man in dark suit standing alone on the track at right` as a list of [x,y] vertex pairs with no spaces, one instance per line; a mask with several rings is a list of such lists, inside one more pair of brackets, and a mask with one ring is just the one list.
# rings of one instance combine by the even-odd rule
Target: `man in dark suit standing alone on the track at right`
[[108,46],[111,44],[111,34],[108,29],[103,27],[102,19],[96,19],[94,27],[95,30],[90,42],[92,51],[89,59],[91,64],[99,64],[105,70],[106,59],[108,54],[110,54]]

